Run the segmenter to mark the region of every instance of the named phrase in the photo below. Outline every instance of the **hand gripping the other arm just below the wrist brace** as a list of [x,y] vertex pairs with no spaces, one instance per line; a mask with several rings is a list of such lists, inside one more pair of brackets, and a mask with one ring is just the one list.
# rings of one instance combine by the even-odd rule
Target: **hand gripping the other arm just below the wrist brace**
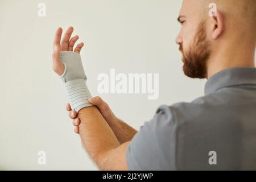
[[[117,125],[119,119],[115,117],[114,113],[110,109],[109,105],[104,102],[101,97],[92,97],[89,98],[90,104],[97,106],[98,110],[100,111],[101,115],[105,118],[106,122],[108,122],[110,127],[113,127],[114,125]],[[79,134],[79,125],[80,125],[80,119],[76,118],[76,111],[71,110],[71,106],[67,104],[66,109],[69,111],[69,117],[73,119],[73,125],[75,126],[75,133]]]

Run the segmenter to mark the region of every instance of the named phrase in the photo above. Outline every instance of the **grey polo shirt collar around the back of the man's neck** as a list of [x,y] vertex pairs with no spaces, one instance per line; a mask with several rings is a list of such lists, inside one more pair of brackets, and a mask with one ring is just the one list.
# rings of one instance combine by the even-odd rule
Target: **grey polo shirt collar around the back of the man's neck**
[[204,87],[204,94],[208,95],[220,88],[244,84],[256,85],[256,68],[236,67],[224,69],[209,78]]

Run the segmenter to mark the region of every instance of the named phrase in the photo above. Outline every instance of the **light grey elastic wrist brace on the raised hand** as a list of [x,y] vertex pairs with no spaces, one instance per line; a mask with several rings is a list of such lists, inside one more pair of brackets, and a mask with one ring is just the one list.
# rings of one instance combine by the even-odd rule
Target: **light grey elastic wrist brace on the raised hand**
[[92,97],[86,85],[87,77],[82,67],[82,60],[79,53],[72,51],[60,52],[60,59],[65,70],[61,79],[64,83],[64,90],[68,94],[68,101],[71,109],[78,113],[82,108],[92,106],[88,98]]

